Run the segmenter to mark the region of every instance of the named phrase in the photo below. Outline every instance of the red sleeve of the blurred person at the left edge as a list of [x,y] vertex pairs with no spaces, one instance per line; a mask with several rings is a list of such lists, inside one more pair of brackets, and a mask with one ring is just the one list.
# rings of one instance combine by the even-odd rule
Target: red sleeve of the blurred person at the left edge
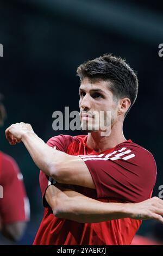
[[0,183],[3,198],[0,199],[2,224],[28,221],[30,218],[29,200],[23,184],[23,175],[12,157],[4,155],[1,166]]

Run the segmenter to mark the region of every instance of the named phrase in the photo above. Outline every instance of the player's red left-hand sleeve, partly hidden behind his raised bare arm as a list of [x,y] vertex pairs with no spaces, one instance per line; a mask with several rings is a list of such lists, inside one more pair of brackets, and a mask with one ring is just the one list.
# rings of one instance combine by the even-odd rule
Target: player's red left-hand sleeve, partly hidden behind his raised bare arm
[[[49,147],[52,147],[52,148],[55,148],[57,150],[67,153],[67,139],[68,139],[68,136],[59,135],[59,136],[49,139],[49,141],[47,142],[47,145],[49,145]],[[43,206],[49,207],[49,205],[45,199],[45,193],[46,193],[48,186],[55,184],[56,181],[54,179],[52,179],[51,177],[47,176],[45,173],[43,173],[42,170],[40,170],[39,180],[40,180],[40,188],[41,188],[41,193],[42,193]]]

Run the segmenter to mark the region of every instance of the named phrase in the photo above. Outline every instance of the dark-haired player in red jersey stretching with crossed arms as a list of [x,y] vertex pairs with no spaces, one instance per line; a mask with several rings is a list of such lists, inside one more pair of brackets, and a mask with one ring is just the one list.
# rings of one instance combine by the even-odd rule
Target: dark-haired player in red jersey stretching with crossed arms
[[[111,54],[80,65],[77,74],[81,129],[86,126],[88,135],[59,135],[45,144],[30,124],[6,130],[9,143],[22,141],[41,169],[45,214],[34,245],[130,245],[142,220],[163,223],[163,202],[151,198],[155,160],[122,130],[136,100],[137,77]],[[97,130],[102,111],[105,125]],[[107,111],[111,133],[104,136]]]

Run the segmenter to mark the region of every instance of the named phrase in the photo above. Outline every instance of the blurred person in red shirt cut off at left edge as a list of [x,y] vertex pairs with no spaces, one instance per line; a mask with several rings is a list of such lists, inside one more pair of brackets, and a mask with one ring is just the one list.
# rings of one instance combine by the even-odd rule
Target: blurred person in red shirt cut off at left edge
[[[0,94],[0,125],[7,117]],[[21,239],[30,218],[29,200],[23,183],[23,175],[16,161],[0,151],[0,231],[12,241]]]

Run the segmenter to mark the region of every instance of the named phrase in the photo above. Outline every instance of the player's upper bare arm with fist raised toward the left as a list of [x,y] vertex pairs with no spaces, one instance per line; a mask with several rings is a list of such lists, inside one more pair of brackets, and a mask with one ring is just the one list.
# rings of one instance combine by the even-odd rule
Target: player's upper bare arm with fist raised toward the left
[[79,156],[49,147],[29,124],[11,125],[5,134],[11,145],[22,141],[36,166],[59,183],[95,188],[89,169]]

